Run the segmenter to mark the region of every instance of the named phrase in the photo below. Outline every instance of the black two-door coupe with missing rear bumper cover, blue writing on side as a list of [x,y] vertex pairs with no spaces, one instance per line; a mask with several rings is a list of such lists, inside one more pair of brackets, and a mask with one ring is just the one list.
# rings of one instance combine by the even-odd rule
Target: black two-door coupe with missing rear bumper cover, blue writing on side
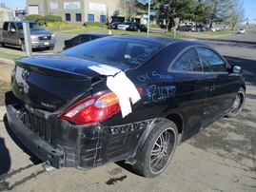
[[21,102],[7,106],[8,123],[46,167],[125,160],[156,177],[177,145],[246,100],[242,68],[195,41],[109,36],[15,64]]

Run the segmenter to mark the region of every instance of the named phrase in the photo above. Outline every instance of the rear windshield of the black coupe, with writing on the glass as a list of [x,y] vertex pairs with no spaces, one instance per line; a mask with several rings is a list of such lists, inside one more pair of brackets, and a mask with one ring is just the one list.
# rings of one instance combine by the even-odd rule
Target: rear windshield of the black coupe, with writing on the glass
[[162,45],[144,41],[103,38],[69,48],[61,54],[103,64],[137,67],[161,48]]

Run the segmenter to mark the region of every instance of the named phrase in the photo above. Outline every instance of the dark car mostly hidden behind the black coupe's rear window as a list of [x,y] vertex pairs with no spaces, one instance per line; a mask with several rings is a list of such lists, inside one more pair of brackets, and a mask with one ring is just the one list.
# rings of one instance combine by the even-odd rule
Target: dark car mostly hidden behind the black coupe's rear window
[[106,33],[99,33],[99,32],[90,32],[90,33],[85,33],[85,34],[79,34],[69,40],[65,40],[64,41],[64,48],[72,48],[74,46],[77,46],[79,44],[83,44],[85,42],[94,40],[94,39],[98,39],[98,38],[102,38],[102,37],[107,37],[110,36],[110,34],[106,34]]

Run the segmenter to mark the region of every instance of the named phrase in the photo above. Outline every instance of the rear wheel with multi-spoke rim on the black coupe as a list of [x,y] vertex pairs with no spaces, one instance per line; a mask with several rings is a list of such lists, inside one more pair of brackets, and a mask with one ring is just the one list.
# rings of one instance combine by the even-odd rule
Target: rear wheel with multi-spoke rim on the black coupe
[[173,122],[163,119],[148,135],[139,161],[131,165],[133,170],[147,178],[160,175],[175,152],[177,134],[177,126]]

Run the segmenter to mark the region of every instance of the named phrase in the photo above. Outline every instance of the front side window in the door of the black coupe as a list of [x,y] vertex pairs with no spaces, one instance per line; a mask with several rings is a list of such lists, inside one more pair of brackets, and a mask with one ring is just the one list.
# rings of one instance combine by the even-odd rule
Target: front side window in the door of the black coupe
[[197,51],[201,58],[204,71],[226,72],[226,63],[217,53],[208,48],[197,48]]

